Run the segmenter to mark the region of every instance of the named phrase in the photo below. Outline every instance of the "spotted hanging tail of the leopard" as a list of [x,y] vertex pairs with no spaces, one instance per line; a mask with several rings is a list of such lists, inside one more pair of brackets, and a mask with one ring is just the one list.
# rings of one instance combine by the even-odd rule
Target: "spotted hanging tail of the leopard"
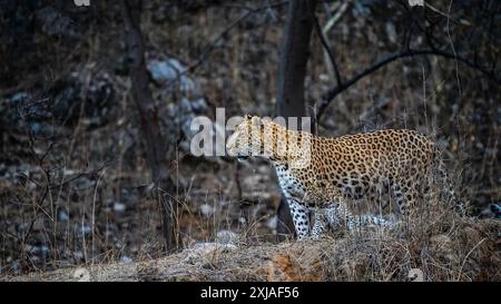
[[454,192],[454,187],[448,175],[445,163],[443,161],[442,151],[435,147],[433,156],[433,177],[438,180],[441,188],[441,198],[449,203],[461,215],[466,214],[466,204]]

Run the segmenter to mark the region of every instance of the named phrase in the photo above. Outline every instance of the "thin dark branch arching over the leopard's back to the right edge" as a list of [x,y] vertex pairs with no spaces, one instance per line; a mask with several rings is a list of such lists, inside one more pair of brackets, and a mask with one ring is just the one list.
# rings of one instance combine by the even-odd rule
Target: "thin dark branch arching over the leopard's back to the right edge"
[[461,57],[461,56],[456,56],[453,55],[451,52],[448,51],[442,51],[442,50],[429,50],[429,49],[418,49],[418,50],[412,50],[412,49],[407,49],[405,51],[399,52],[399,53],[393,53],[390,55],[383,59],[380,59],[379,61],[376,61],[374,65],[372,65],[371,67],[366,68],[365,70],[358,72],[357,75],[355,75],[354,77],[350,78],[348,80],[344,81],[342,86],[336,86],[335,88],[331,89],[330,91],[327,91],[324,97],[322,98],[322,101],[318,105],[318,111],[316,114],[316,119],[320,120],[321,116],[323,115],[323,112],[325,111],[325,109],[327,108],[327,106],[331,104],[331,101],[342,91],[346,90],[347,88],[350,88],[351,86],[353,86],[354,84],[356,84],[358,80],[361,80],[362,78],[364,78],[367,75],[371,75],[375,71],[377,71],[379,69],[381,69],[382,67],[396,61],[399,59],[403,59],[403,58],[407,58],[407,57],[414,57],[414,56],[439,56],[439,57],[443,57],[446,59],[452,59],[452,60],[456,60],[458,62],[462,62],[463,65],[473,68],[475,70],[481,71],[482,73],[487,75],[488,77],[490,77],[491,79],[494,79],[495,81],[501,82],[501,80],[499,79],[499,77],[495,75],[495,70],[494,69],[488,69],[484,68],[482,66],[477,65],[475,62],[470,61],[469,59]]

